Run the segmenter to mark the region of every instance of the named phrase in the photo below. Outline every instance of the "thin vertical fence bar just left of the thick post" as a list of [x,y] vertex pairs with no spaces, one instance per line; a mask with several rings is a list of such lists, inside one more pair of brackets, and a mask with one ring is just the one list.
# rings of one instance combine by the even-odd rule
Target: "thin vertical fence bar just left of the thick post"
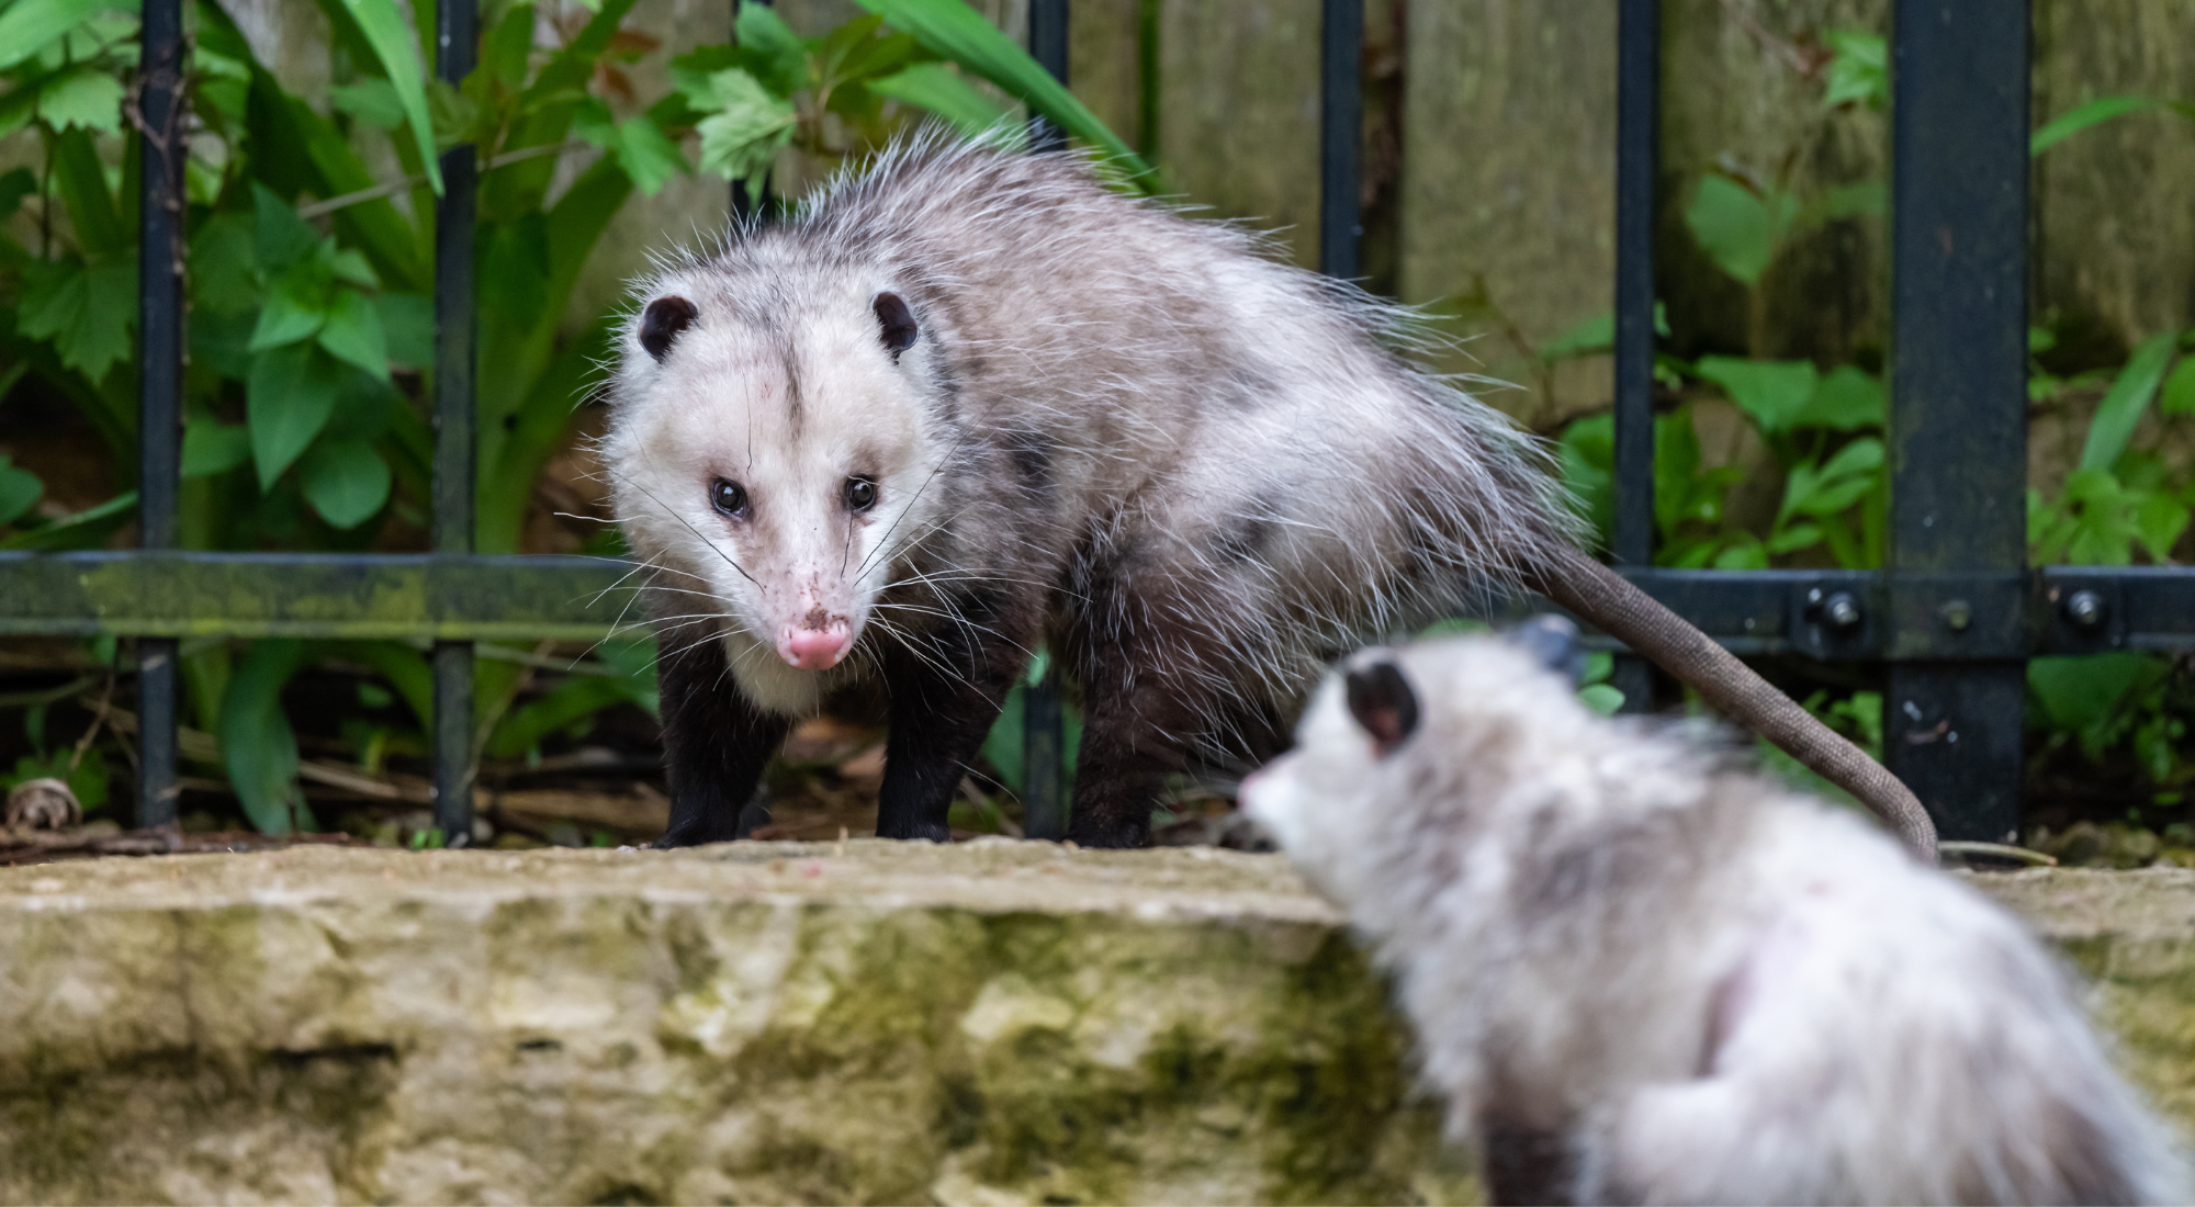
[[[1662,149],[1662,4],[1616,15],[1616,562],[1653,564],[1653,224]],[[1653,669],[1616,658],[1624,711],[1646,711]]]

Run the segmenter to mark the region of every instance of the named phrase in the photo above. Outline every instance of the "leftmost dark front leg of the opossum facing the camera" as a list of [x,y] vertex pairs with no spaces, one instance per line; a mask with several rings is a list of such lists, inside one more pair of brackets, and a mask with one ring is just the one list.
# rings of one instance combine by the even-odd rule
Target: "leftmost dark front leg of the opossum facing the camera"
[[781,715],[753,707],[724,665],[724,647],[691,630],[658,630],[656,689],[663,696],[663,766],[672,823],[656,847],[724,843],[740,834],[740,810],[764,764],[786,740]]

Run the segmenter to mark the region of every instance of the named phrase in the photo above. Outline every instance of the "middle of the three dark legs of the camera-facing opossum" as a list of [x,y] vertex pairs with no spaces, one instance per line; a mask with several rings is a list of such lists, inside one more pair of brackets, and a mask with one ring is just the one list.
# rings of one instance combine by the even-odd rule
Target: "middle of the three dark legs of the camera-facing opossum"
[[876,797],[878,838],[950,838],[953,790],[1029,665],[1034,606],[968,599],[955,610],[968,623],[935,630],[920,656],[887,654],[891,737],[885,740],[885,788]]

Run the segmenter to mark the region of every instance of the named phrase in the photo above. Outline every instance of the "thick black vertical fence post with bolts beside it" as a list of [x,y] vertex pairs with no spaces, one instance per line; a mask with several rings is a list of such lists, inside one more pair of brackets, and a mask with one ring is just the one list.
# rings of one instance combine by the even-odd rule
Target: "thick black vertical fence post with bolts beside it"
[[[2026,0],[1896,0],[1890,123],[1896,595],[2026,568]],[[1997,621],[1951,612],[1929,623]],[[2022,661],[1892,665],[1886,757],[1945,838],[2015,834],[2024,683]]]

